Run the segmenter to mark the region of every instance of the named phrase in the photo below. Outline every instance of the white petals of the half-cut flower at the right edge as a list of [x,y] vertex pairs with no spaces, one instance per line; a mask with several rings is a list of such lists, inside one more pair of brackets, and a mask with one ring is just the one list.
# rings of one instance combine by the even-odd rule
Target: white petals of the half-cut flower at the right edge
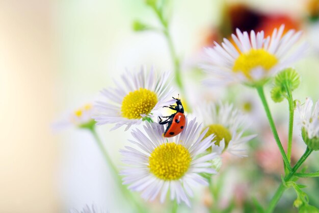
[[303,105],[297,102],[298,124],[306,130],[309,139],[319,137],[319,101],[315,103],[313,110],[312,105],[310,98],[306,98],[306,103]]

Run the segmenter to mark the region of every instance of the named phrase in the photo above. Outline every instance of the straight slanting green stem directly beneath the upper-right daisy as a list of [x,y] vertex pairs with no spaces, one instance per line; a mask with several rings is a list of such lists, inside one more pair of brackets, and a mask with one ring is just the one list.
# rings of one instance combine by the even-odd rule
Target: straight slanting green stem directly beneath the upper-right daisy
[[266,100],[264,92],[263,92],[263,87],[262,86],[257,86],[256,89],[258,91],[259,97],[261,99],[261,102],[262,102],[263,107],[265,109],[265,112],[267,114],[269,125],[270,125],[270,128],[271,128],[272,132],[273,132],[273,135],[274,135],[274,138],[276,140],[277,146],[278,146],[279,151],[280,151],[280,153],[282,155],[282,159],[283,159],[283,162],[284,162],[285,169],[290,170],[291,169],[290,168],[290,163],[288,161],[286,153],[285,153],[285,151],[284,151],[284,149],[282,147],[282,144],[280,142],[280,139],[279,139],[279,136],[278,136],[278,133],[277,133],[277,129],[276,129],[272,114],[270,112],[267,100]]

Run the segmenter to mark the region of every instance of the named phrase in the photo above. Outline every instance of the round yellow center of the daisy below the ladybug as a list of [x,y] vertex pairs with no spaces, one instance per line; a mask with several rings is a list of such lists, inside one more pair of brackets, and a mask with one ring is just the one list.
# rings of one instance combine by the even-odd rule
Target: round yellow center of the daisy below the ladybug
[[162,180],[177,180],[188,171],[191,154],[182,145],[162,144],[156,147],[149,157],[149,169]]

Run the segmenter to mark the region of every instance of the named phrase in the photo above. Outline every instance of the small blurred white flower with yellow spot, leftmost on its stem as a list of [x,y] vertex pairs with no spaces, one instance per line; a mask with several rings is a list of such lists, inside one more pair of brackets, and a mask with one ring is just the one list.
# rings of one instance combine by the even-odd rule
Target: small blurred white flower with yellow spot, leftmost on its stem
[[75,126],[78,128],[92,128],[95,121],[92,116],[95,108],[92,104],[86,104],[71,113],[68,113],[62,121],[54,124],[55,129],[61,129],[68,126]]

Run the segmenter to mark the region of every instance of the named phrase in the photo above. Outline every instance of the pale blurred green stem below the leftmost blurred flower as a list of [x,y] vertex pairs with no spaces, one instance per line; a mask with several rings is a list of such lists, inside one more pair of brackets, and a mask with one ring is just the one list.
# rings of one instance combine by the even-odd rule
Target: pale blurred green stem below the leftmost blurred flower
[[127,188],[122,184],[121,178],[119,176],[119,172],[117,170],[117,168],[115,167],[115,165],[113,164],[107,150],[105,150],[104,145],[102,143],[102,140],[100,139],[100,137],[98,136],[95,127],[91,127],[88,128],[90,130],[90,132],[92,133],[98,148],[100,149],[100,151],[102,152],[102,155],[105,159],[105,161],[107,161],[107,164],[109,165],[109,167],[112,170],[112,173],[116,179],[116,182],[118,184],[118,186],[120,187],[120,190],[122,192],[122,194],[127,198],[127,200],[129,200],[130,202],[132,202],[138,209],[138,212],[146,212],[146,210],[144,209],[143,206],[141,206],[141,204],[139,203],[139,201],[136,200],[136,198],[134,197],[134,195],[131,194],[130,191],[127,190]]

